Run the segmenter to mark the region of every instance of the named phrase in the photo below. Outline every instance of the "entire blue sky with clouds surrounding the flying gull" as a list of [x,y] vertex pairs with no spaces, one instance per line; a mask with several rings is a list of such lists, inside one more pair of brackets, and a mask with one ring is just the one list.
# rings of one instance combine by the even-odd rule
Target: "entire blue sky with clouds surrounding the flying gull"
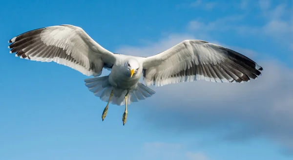
[[[0,5],[0,160],[291,160],[293,3],[290,0],[5,1]],[[59,24],[106,49],[153,55],[185,39],[241,52],[264,68],[246,84],[197,81],[106,105],[87,76],[9,54],[7,41]],[[108,74],[107,71],[103,75]]]

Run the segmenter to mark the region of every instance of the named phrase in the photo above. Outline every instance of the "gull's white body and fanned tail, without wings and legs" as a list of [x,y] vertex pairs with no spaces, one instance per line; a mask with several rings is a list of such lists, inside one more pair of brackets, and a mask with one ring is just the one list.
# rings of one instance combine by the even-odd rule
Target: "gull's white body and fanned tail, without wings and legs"
[[119,106],[125,104],[125,95],[127,91],[129,91],[127,104],[131,104],[131,102],[138,102],[139,100],[146,99],[154,94],[155,91],[139,82],[142,76],[143,67],[140,66],[137,73],[130,77],[127,75],[127,70],[124,68],[124,64],[126,60],[132,58],[132,56],[117,56],[119,56],[119,58],[117,58],[118,61],[116,61],[113,65],[108,76],[84,80],[86,82],[85,85],[89,88],[89,91],[92,91],[95,96],[98,96],[101,100],[107,102],[110,93],[113,90],[113,96],[110,103]]

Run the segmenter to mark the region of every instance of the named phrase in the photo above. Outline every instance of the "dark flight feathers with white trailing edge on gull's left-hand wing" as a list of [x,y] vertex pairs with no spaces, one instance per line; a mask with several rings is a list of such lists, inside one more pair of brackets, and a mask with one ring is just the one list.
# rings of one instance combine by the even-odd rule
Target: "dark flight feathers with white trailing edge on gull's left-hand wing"
[[[58,26],[66,27],[66,25]],[[44,43],[42,43],[40,35],[42,31],[44,31],[46,28],[48,27],[30,30],[10,39],[8,41],[8,43],[11,43],[8,46],[8,48],[11,49],[9,52],[16,53],[16,57],[33,61],[54,61],[58,64],[62,64],[78,70],[87,76],[100,76],[102,74],[103,67],[108,68],[111,65],[103,63],[102,60],[90,61],[88,57],[85,57],[83,55],[80,57],[77,57],[75,55],[72,56],[72,53],[66,53],[67,49],[63,49],[62,47],[60,47],[60,45],[45,45]]]

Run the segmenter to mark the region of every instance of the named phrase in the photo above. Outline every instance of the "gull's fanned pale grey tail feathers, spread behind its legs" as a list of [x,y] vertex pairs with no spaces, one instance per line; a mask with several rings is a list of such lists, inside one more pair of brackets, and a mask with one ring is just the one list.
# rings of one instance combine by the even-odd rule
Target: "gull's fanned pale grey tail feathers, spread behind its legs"
[[[95,96],[100,97],[100,99],[104,102],[108,102],[110,93],[113,90],[114,95],[112,96],[110,103],[118,106],[125,105],[124,98],[127,91],[113,88],[109,84],[108,78],[109,76],[84,79],[85,86],[88,87],[89,91],[93,92]],[[127,104],[146,99],[154,93],[155,91],[138,82],[137,87],[129,92]]]

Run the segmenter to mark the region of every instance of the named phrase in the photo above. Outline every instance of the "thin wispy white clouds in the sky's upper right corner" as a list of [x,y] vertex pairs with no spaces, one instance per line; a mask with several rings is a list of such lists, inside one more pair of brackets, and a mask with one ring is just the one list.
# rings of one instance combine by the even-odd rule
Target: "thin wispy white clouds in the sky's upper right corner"
[[[200,5],[201,1],[194,2]],[[255,2],[254,2],[255,3]],[[217,17],[214,20],[195,18],[188,23],[187,29],[196,34],[237,33],[241,36],[254,36],[259,39],[274,41],[275,45],[292,50],[293,46],[293,3],[277,2],[272,5],[270,0],[258,0],[258,5],[249,0],[241,3],[229,3],[226,7],[245,8],[236,15]],[[219,3],[217,7],[223,6]],[[248,7],[249,6],[249,7]],[[257,23],[251,23],[257,22]],[[211,34],[210,34],[211,35]],[[286,53],[289,54],[289,53]],[[293,54],[289,54],[293,58]]]

